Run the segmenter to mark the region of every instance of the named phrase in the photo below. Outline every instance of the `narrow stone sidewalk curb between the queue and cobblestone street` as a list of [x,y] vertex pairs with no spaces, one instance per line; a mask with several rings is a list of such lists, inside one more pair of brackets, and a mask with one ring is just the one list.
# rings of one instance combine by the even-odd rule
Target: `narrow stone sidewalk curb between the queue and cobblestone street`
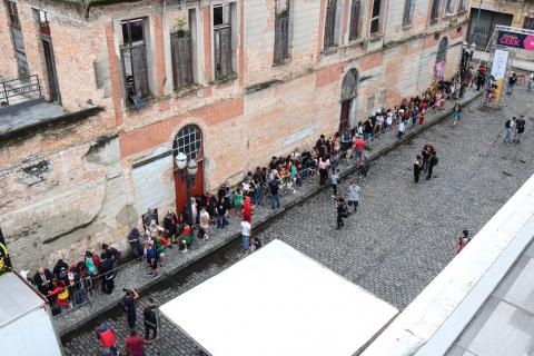
[[[465,101],[462,101],[462,100],[457,100],[457,101],[461,102],[462,106],[466,106],[466,105],[473,102],[474,100],[476,100],[478,97],[481,97],[481,95],[482,95],[482,91],[476,93],[472,98],[466,99]],[[442,115],[437,116],[432,121],[428,121],[427,125],[417,126],[415,129],[411,130],[409,134],[406,134],[402,139],[395,140],[394,142],[392,142],[392,144],[372,152],[370,156],[369,156],[369,159],[372,161],[378,159],[379,157],[384,156],[385,154],[387,154],[388,151],[390,151],[395,147],[411,140],[412,138],[417,136],[419,132],[422,132],[422,131],[431,128],[432,126],[443,121],[452,112],[453,112],[452,109],[444,110]],[[350,175],[355,174],[356,170],[357,170],[357,168],[352,166],[352,167],[349,167],[348,169],[346,169],[345,171],[342,172],[342,177],[345,178],[347,176],[350,176]],[[270,211],[266,216],[264,216],[261,218],[258,218],[254,224],[254,228],[255,229],[261,228],[261,226],[264,226],[266,222],[275,219],[276,217],[281,216],[285,211],[291,209],[296,205],[301,204],[304,200],[322,192],[323,190],[325,190],[327,188],[329,188],[329,185],[315,187],[314,189],[312,189],[310,191],[301,195],[300,197],[298,197],[294,201],[289,201],[286,205],[284,205],[283,207],[280,207],[279,209]],[[268,209],[268,207],[266,207],[266,208]],[[187,267],[191,266],[192,264],[198,263],[199,260],[204,259],[205,257],[208,257],[209,255],[211,255],[212,253],[217,251],[218,249],[227,246],[228,244],[236,241],[237,239],[239,239],[240,236],[241,236],[241,234],[239,234],[239,233],[231,234],[229,237],[226,237],[225,239],[220,240],[219,244],[207,248],[206,250],[201,251],[200,254],[198,254],[197,256],[195,256],[190,260],[187,260],[184,264],[181,264],[181,265],[179,265],[179,266],[177,266],[177,267],[175,267],[175,268],[172,268],[168,271],[162,273],[159,278],[148,280],[146,284],[144,284],[142,286],[137,288],[137,290],[139,293],[142,293],[142,291],[145,291],[145,290],[147,290],[147,289],[149,289],[149,288],[151,288],[151,287],[154,287],[158,284],[161,284],[164,281],[169,280],[170,278],[172,278],[179,271],[186,269]],[[78,328],[85,327],[86,325],[91,323],[93,319],[100,317],[102,314],[105,314],[105,313],[113,309],[115,307],[117,307],[118,303],[121,299],[122,299],[122,297],[113,298],[113,300],[110,301],[107,306],[102,307],[101,309],[97,310],[96,313],[91,314],[90,316],[87,316],[85,318],[81,318],[78,322],[75,322],[75,323],[70,324],[68,327],[66,327],[65,329],[62,329],[60,332],[58,330],[59,336],[60,337],[66,337],[69,334],[76,332]]]

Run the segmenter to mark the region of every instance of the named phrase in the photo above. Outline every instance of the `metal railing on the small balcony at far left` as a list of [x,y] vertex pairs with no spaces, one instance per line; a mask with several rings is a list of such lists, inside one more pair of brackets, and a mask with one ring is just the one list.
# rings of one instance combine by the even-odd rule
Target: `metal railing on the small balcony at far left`
[[41,97],[41,83],[37,75],[0,82],[0,103],[9,106],[28,98]]

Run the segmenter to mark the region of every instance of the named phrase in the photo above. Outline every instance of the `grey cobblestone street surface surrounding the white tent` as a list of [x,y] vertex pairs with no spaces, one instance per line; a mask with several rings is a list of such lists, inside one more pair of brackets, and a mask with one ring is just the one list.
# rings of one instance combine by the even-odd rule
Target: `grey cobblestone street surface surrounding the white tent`
[[[347,218],[340,230],[334,229],[334,200],[330,190],[325,190],[288,209],[257,236],[264,243],[283,239],[404,309],[454,257],[458,233],[466,228],[475,235],[534,172],[532,95],[517,90],[506,98],[503,111],[481,111],[478,107],[479,100],[465,108],[458,127],[453,128],[447,118],[378,158],[368,179],[359,181],[363,196],[358,212]],[[507,117],[527,113],[521,144],[502,142],[503,112]],[[413,159],[427,141],[436,147],[439,162],[434,178],[416,185]],[[345,179],[342,190],[355,179]],[[142,314],[147,297],[164,304],[239,258],[238,241],[234,241],[145,293],[138,314]],[[65,337],[67,355],[98,355],[92,328],[101,320],[111,322],[119,340],[126,338],[126,317],[113,309]],[[195,344],[165,319],[160,333],[162,340],[149,347],[149,355],[198,354]]]

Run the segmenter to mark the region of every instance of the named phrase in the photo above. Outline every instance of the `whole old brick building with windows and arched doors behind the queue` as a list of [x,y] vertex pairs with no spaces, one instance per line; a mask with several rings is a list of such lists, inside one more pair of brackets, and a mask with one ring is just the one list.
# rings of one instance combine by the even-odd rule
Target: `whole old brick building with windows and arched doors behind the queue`
[[178,151],[199,165],[195,191],[212,190],[425,90],[436,62],[452,77],[469,8],[2,1],[0,100],[24,93],[0,109],[0,224],[19,268],[125,247],[147,209],[181,208]]

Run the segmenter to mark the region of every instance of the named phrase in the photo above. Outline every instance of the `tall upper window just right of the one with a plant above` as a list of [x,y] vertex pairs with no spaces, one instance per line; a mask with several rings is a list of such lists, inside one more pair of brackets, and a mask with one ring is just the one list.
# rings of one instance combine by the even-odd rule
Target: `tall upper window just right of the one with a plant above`
[[234,72],[231,63],[231,12],[229,6],[214,7],[215,78]]

